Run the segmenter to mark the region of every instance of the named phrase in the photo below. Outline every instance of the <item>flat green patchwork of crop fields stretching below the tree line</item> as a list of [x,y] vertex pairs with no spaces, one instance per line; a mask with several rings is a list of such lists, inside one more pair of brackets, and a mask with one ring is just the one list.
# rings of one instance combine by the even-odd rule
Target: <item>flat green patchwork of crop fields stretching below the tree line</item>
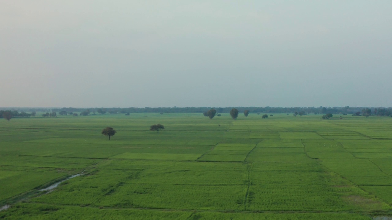
[[[11,207],[0,219],[392,216],[392,118],[320,117],[2,119],[0,206]],[[149,131],[157,123],[165,129]],[[110,141],[107,126],[117,131]]]

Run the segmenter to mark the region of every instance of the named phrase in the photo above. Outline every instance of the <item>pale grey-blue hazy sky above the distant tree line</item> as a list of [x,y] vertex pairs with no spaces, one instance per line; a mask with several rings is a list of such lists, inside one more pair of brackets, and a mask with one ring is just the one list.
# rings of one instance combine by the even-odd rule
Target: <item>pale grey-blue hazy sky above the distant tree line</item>
[[392,106],[391,11],[391,0],[0,0],[0,106]]

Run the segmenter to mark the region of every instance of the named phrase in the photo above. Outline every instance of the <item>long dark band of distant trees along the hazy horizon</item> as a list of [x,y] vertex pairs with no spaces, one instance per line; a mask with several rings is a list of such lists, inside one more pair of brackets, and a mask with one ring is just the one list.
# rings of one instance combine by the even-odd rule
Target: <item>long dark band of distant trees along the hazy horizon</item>
[[[245,117],[250,113],[294,113],[294,116],[302,116],[307,114],[352,114],[353,116],[390,116],[392,117],[392,108],[364,108],[364,107],[158,107],[158,108],[0,108],[0,118],[4,117],[7,120],[12,117],[34,117],[36,116],[36,111],[46,112],[42,114],[42,117],[56,117],[57,113],[59,115],[73,115],[73,116],[87,116],[87,115],[97,115],[97,114],[125,114],[130,113],[203,113],[204,116],[208,116],[212,119],[215,116],[220,116],[221,113],[229,113],[231,115],[232,109],[238,110],[238,112],[243,112]],[[26,113],[27,110],[31,110],[31,113]],[[20,111],[20,112],[19,112]],[[74,112],[79,112],[74,113]],[[270,115],[271,116],[271,115]],[[268,115],[263,115],[263,118],[267,118]],[[235,117],[236,118],[236,117]]]

